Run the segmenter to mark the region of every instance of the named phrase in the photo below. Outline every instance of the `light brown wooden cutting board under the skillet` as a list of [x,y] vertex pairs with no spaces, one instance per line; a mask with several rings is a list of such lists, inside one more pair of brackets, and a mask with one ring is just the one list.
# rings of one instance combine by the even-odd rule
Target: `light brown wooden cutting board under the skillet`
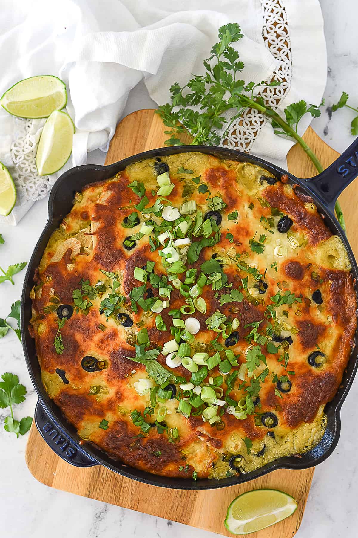
[[[164,126],[154,110],[138,110],[124,118],[117,126],[109,147],[105,164],[119,161],[129,155],[164,146]],[[309,128],[304,136],[322,164],[327,167],[338,153],[327,146]],[[188,139],[189,140],[189,139]],[[288,154],[290,172],[301,178],[315,175],[311,161],[301,148],[294,146]],[[354,236],[354,208],[358,206],[357,180],[341,196],[346,217],[348,237],[358,255],[358,235]],[[302,521],[303,511],[310,490],[314,468],[303,471],[277,470],[246,484],[209,491],[166,490],[121,477],[98,465],[79,469],[65,463],[48,447],[34,423],[26,447],[26,463],[32,475],[50,487],[83,495],[138,512],[186,523],[224,536],[227,532],[223,520],[232,499],[244,491],[260,487],[274,488],[293,495],[298,502],[296,512],[277,525],[268,527],[249,538],[289,538],[294,536]]]

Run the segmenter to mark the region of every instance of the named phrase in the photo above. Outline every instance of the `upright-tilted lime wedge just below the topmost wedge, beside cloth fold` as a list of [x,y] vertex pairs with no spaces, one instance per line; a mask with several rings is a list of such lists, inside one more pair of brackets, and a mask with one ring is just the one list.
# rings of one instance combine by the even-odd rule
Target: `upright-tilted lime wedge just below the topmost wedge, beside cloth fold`
[[66,112],[55,110],[43,126],[36,152],[39,175],[57,172],[67,162],[72,151],[75,125]]

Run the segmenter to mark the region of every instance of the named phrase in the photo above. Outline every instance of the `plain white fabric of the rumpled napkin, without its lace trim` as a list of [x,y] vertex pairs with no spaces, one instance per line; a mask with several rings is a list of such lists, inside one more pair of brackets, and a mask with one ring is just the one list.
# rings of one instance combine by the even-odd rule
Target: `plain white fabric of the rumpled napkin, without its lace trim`
[[[323,63],[322,69],[313,72],[317,61],[312,61],[313,68],[308,69],[312,81],[304,79],[303,70],[298,73],[302,80],[293,101],[303,97],[317,103],[326,69],[318,0],[301,0],[299,9],[293,7],[295,0],[285,3],[291,6],[291,15],[302,10],[297,38],[304,24],[315,26],[317,54]],[[203,72],[202,60],[217,40],[218,27],[228,22],[238,22],[245,34],[234,44],[245,62],[243,78],[268,79],[277,60],[262,38],[260,0],[3,0],[0,89],[36,74],[60,76],[69,90],[67,110],[76,125],[72,165],[81,165],[88,150],[107,150],[129,91],[141,79],[154,101],[169,101],[173,82],[185,84],[192,73]],[[9,118],[1,115],[0,128],[3,122],[7,125],[6,135],[0,136],[0,160],[3,155],[9,157],[11,144]],[[284,165],[290,144],[269,131],[261,138],[261,153],[267,156],[273,150],[275,160]],[[260,145],[257,150],[260,153]],[[15,207],[12,223],[23,214],[24,208]]]

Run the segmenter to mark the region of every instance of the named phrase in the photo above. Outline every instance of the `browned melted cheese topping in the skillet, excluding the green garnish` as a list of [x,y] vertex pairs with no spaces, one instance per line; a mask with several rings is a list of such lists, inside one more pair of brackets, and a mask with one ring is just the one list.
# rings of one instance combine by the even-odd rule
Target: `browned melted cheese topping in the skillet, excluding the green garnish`
[[[289,289],[290,293],[302,298],[302,302],[283,305],[276,310],[279,322],[286,323],[284,327],[288,327],[283,335],[291,334],[293,344],[281,348],[278,354],[268,353],[266,346],[261,345],[269,369],[261,386],[261,407],[256,407],[255,413],[248,415],[245,420],[238,420],[225,412],[222,416],[225,427],[218,430],[215,424],[210,426],[208,422],[203,422],[201,416],[192,415],[185,419],[176,413],[178,400],[167,400],[165,422],[169,431],[178,428],[180,440],[176,443],[169,442],[166,432],[158,434],[155,427],[150,429],[148,435],[138,436],[141,430],[131,421],[131,411],[136,409],[143,413],[144,408],[150,405],[149,395],[141,397],[134,389],[135,381],[148,377],[145,367],[126,358],[135,356],[133,338],[140,327],[146,327],[151,348],[162,349],[163,344],[173,338],[170,334],[172,317],[168,312],[180,308],[184,298],[177,289],[173,289],[170,308],[160,313],[167,332],[157,330],[155,314],[147,315],[141,308],[135,314],[127,301],[121,310],[130,315],[134,325],[126,329],[114,316],[107,321],[106,316],[99,312],[99,304],[111,293],[112,284],[111,279],[100,270],[120,275],[118,292],[127,298],[133,287],[142,285],[134,278],[134,267],[142,267],[152,260],[156,263],[155,272],[166,274],[158,249],[150,252],[148,236],[137,240],[133,250],[128,251],[123,247],[123,240],[136,233],[144,222],[139,212],[141,224],[134,228],[123,228],[121,225],[123,219],[134,210],[134,205],[140,202],[140,198],[127,185],[134,180],[142,181],[149,199],[148,206],[152,206],[157,199],[155,191],[158,188],[155,159],[137,162],[111,180],[86,186],[81,202],[74,204],[63,225],[48,242],[35,275],[30,328],[36,342],[43,384],[85,441],[95,443],[128,465],[158,475],[187,478],[196,471],[199,477],[221,478],[234,472],[228,466],[232,454],[244,456],[242,471],[245,472],[277,457],[304,452],[322,438],[325,428],[323,407],[333,398],[340,385],[353,346],[356,296],[344,246],[326,228],[311,201],[298,198],[291,186],[281,182],[268,185],[261,176],[271,174],[258,166],[222,161],[201,153],[182,153],[165,157],[163,161],[169,165],[171,181],[175,185],[167,197],[172,206],[180,207],[185,183],[192,183],[191,179],[198,176],[201,176],[201,183],[208,186],[210,196],[221,196],[227,204],[221,210],[220,242],[204,248],[198,261],[192,266],[187,264],[187,268],[196,267],[199,274],[200,264],[210,259],[213,253],[225,256],[229,252],[230,258],[226,259],[223,271],[228,276],[229,284],[236,289],[242,287],[242,279],[247,277],[247,273],[237,267],[235,256],[240,255],[237,259],[253,264],[262,274],[266,271],[268,288],[264,294],[255,292],[255,280],[249,275],[248,292],[241,289],[245,299],[226,303],[222,307],[219,298],[222,293],[229,293],[230,288],[214,294],[211,286],[204,286],[201,296],[206,301],[207,312],[182,315],[183,320],[195,316],[200,321],[200,331],[195,335],[195,342],[201,343],[200,351],[206,349],[209,355],[215,353],[210,349],[210,344],[218,333],[208,330],[205,321],[216,310],[220,310],[229,319],[237,317],[240,322],[237,328],[239,341],[230,349],[239,355],[239,364],[245,362],[249,345],[245,336],[251,330],[245,325],[265,320],[260,325],[260,332],[265,332],[268,322],[265,308],[271,304],[270,298],[279,291],[283,293]],[[178,174],[179,166],[191,169],[193,173]],[[154,195],[151,189],[155,189]],[[195,186],[189,199],[195,200],[196,209],[204,214],[208,210],[207,197],[207,193],[199,193]],[[262,207],[258,197],[268,203]],[[260,222],[262,216],[271,217],[271,208],[277,208],[293,220],[289,234],[277,231],[280,215],[274,216],[275,226],[271,228],[274,233],[268,232],[264,223]],[[228,214],[235,210],[238,211],[238,218],[228,220]],[[158,223],[161,221],[160,218],[155,220]],[[258,254],[250,249],[249,240],[255,234],[257,239],[261,233],[267,237],[264,253]],[[227,234],[233,237],[227,237]],[[319,275],[318,281],[312,274],[313,277]],[[183,275],[178,278],[184,281],[185,273],[184,278]],[[107,289],[102,296],[91,301],[93,306],[86,315],[75,309],[65,322],[61,329],[64,349],[58,355],[54,347],[56,309],[54,312],[45,310],[44,313],[43,308],[54,305],[56,297],[61,304],[73,306],[72,292],[81,288],[81,279],[89,280],[92,286],[104,281]],[[320,290],[323,298],[319,308],[312,301],[312,293],[316,289]],[[158,295],[158,289],[153,291]],[[282,311],[286,312],[287,317]],[[100,330],[100,324],[105,326],[104,330]],[[291,327],[295,328],[293,333],[290,332]],[[223,343],[220,338],[219,341]],[[317,349],[325,353],[326,362],[315,368],[307,359]],[[283,351],[289,352],[286,369],[282,360],[277,361]],[[220,353],[225,358],[224,351]],[[86,372],[81,367],[84,356],[105,360],[108,367],[102,371]],[[166,366],[162,354],[157,360]],[[231,372],[238,368],[234,366]],[[255,376],[259,376],[265,368],[261,363],[254,372]],[[68,383],[63,382],[56,369],[65,372]],[[169,367],[167,369],[170,370]],[[288,374],[288,371],[295,374]],[[215,377],[218,373],[216,367],[209,375]],[[184,376],[188,381],[191,378],[191,372],[183,366],[175,369],[174,374]],[[282,398],[275,392],[274,374],[278,377],[287,375],[292,383],[291,390],[282,393]],[[208,383],[208,379],[209,376],[204,384]],[[236,379],[230,392],[234,400],[245,396],[245,392],[239,388],[240,384],[242,380]],[[108,394],[89,395],[93,385],[105,386]],[[226,388],[224,382],[224,391]],[[154,415],[148,417],[149,422],[155,420],[157,409]],[[260,424],[260,418],[257,420],[266,412],[274,413],[278,420],[277,426],[271,429],[274,437],[267,436],[268,428]],[[107,429],[99,428],[102,420],[108,421]],[[243,441],[245,438],[252,441],[251,450],[247,449]]]

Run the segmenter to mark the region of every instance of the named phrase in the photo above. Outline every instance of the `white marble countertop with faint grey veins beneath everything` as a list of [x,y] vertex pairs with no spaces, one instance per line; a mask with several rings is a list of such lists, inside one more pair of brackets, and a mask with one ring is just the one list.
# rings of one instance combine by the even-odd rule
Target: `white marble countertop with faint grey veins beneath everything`
[[[297,0],[298,1],[298,0]],[[358,101],[356,74],[358,53],[356,47],[356,20],[358,5],[355,0],[321,0],[325,19],[328,49],[328,82],[325,91],[329,105],[346,90]],[[135,88],[124,115],[140,108],[155,108],[144,86]],[[330,118],[327,111],[312,122],[313,129],[337,151],[343,151],[353,141],[349,132],[352,115],[348,109]],[[104,154],[93,152],[89,162],[104,161]],[[47,219],[47,200],[36,202],[15,228],[0,227],[6,243],[1,245],[1,265],[7,267],[30,259],[34,244]],[[0,288],[0,316],[10,311],[11,302],[20,298],[22,273],[14,277],[15,285],[5,282]],[[24,363],[23,351],[16,335],[8,334],[0,342],[0,373],[17,373],[20,383],[26,385],[28,397],[16,406],[15,416],[33,415],[36,394]],[[353,409],[358,398],[358,380],[350,391],[342,409],[342,433],[338,448],[326,462],[318,466],[303,517],[298,538],[353,538],[357,536],[358,473],[355,439],[358,423]],[[0,413],[0,514],[7,538],[27,536],[36,538],[117,538],[140,536],[147,538],[210,538],[217,536],[192,527],[137,513],[102,502],[77,497],[50,489],[36,482],[24,461],[26,437],[18,440],[3,429],[6,409]],[[293,475],[294,476],[294,475]],[[282,485],[284,489],[284,484]],[[280,538],[288,538],[286,536]]]

